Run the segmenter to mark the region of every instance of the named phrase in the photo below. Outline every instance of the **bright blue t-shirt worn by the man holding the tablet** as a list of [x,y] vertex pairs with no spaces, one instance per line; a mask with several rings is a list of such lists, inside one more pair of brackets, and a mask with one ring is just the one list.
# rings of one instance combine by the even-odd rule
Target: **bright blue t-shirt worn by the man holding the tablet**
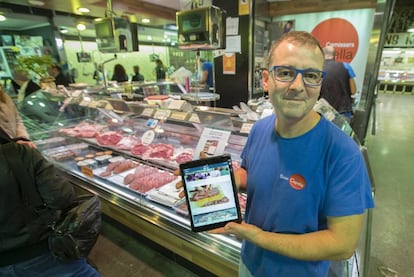
[[[276,115],[256,122],[242,152],[247,170],[245,221],[284,234],[327,229],[327,216],[362,214],[374,206],[356,143],[323,116],[307,133],[282,138]],[[254,276],[326,276],[329,261],[301,261],[243,241],[242,259]]]

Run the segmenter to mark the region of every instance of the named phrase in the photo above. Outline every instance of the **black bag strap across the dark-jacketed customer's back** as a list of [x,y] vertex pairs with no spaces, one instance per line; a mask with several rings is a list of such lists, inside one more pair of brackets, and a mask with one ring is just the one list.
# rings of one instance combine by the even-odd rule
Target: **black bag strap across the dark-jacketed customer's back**
[[[36,189],[36,183],[33,178],[30,178],[30,174],[23,163],[23,159],[16,155],[15,142],[3,144],[1,149],[10,170],[13,172],[14,178],[20,187],[21,197],[23,202],[28,206],[39,207],[43,206],[44,202]],[[18,169],[22,169],[17,171]]]

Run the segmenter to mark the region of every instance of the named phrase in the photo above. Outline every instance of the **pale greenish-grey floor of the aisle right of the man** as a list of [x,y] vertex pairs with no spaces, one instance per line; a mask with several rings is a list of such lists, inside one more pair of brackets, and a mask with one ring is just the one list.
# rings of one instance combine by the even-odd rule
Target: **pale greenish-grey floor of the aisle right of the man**
[[[414,276],[414,95],[379,94],[376,135],[367,135],[376,183],[370,277],[380,267]],[[389,272],[388,276],[392,275]]]

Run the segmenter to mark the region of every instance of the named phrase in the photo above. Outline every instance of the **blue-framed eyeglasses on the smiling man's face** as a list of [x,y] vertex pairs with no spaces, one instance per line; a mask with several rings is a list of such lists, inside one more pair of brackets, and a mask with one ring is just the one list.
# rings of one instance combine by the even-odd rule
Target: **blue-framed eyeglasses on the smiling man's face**
[[326,77],[325,71],[316,69],[297,69],[291,66],[275,65],[269,69],[273,79],[279,82],[291,83],[296,79],[298,73],[302,74],[305,86],[319,86],[322,79]]

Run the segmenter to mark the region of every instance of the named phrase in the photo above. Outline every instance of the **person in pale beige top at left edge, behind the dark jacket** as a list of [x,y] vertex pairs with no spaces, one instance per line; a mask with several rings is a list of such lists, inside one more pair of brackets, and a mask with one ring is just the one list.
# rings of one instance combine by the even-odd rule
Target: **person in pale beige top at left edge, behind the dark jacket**
[[0,84],[0,128],[6,136],[19,144],[27,144],[32,148],[36,145],[30,141],[29,134],[23,124],[22,118],[14,104],[13,100],[8,96],[3,86]]

